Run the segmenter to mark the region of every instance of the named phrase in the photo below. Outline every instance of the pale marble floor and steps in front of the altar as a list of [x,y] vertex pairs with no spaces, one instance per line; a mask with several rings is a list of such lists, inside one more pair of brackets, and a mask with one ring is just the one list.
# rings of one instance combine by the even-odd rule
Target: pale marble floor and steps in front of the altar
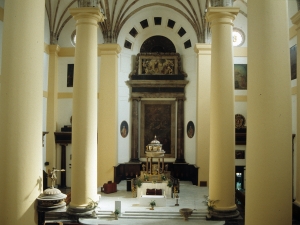
[[[101,194],[99,205],[96,208],[96,217],[90,219],[80,219],[81,224],[203,224],[203,225],[223,225],[225,221],[207,221],[206,206],[203,203],[204,195],[208,194],[207,187],[192,185],[189,181],[180,182],[179,206],[175,206],[176,200],[173,198],[166,200],[165,207],[155,207],[150,210],[149,206],[140,206],[139,198],[132,196],[131,191],[127,191],[126,181],[121,181],[117,185],[118,191],[111,194]],[[115,209],[115,202],[121,202],[121,214],[115,220],[112,212]],[[181,208],[193,209],[188,221],[180,215]]]

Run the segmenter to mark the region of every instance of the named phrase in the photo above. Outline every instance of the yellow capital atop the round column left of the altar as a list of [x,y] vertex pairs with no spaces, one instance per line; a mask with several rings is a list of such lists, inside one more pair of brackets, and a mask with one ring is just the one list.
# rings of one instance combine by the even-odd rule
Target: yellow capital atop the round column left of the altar
[[94,18],[97,22],[104,21],[104,15],[97,7],[71,8],[69,12],[76,21],[86,18]]

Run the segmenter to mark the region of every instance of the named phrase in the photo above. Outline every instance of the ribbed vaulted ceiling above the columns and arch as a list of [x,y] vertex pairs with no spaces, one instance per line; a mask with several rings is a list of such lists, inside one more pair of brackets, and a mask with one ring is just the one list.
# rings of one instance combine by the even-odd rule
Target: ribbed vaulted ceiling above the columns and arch
[[[205,12],[210,0],[92,0],[99,2],[106,20],[99,27],[106,43],[116,43],[120,30],[126,22],[142,10],[157,7],[173,10],[181,15],[193,27],[198,42],[204,42],[208,29]],[[247,5],[247,0],[241,1]],[[78,7],[77,0],[46,0],[46,13],[49,19],[50,42],[56,44],[65,24],[72,19],[68,9]],[[243,12],[241,12],[243,14]],[[243,15],[246,16],[246,13]]]

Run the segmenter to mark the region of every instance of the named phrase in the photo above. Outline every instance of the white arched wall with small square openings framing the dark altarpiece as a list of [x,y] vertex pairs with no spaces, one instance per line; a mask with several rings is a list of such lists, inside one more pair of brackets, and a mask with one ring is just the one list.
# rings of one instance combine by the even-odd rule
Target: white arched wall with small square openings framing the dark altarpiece
[[[153,13],[155,12],[155,13]],[[154,17],[162,17],[162,24],[161,25],[155,25],[154,24]],[[143,29],[140,25],[140,21],[147,19],[149,23],[149,27]],[[173,29],[167,27],[168,19],[174,20],[175,26]],[[132,28],[135,28],[138,31],[138,35],[133,38],[129,31]],[[183,27],[186,30],[186,34],[180,37],[177,32],[179,29]],[[125,76],[128,80],[129,73],[134,69],[135,66],[135,56],[139,53],[140,47],[143,44],[143,42],[148,39],[149,37],[153,35],[161,35],[165,36],[168,39],[170,39],[175,47],[177,53],[181,55],[182,60],[182,69],[184,72],[187,73],[188,77],[187,80],[189,81],[189,84],[186,86],[185,92],[186,92],[186,101],[184,102],[185,107],[185,115],[184,115],[184,129],[185,129],[185,159],[188,163],[195,164],[195,154],[196,154],[196,140],[195,137],[190,139],[186,135],[186,125],[189,121],[193,121],[194,124],[196,124],[196,84],[197,84],[197,77],[196,77],[196,54],[194,53],[193,46],[195,43],[197,43],[197,38],[195,36],[195,32],[191,25],[186,22],[186,20],[178,13],[174,13],[174,11],[167,9],[167,8],[161,8],[161,7],[155,7],[152,11],[142,10],[139,13],[135,15],[134,18],[131,18],[128,20],[126,24],[124,24],[122,30],[120,31],[120,36],[118,39],[119,45],[122,47],[122,56],[121,56],[121,62],[123,60],[123,57],[126,57],[128,62],[128,65],[131,65],[131,68],[127,68],[129,70],[126,70]],[[191,40],[192,47],[185,49],[184,48],[184,42],[187,40]],[[128,40],[132,43],[132,50],[123,48],[125,40]],[[124,53],[123,53],[124,52]],[[126,53],[126,56],[124,55]],[[131,60],[131,61],[129,61]],[[122,66],[122,63],[121,63]],[[120,76],[123,76],[122,71]],[[123,79],[119,78],[119,81]],[[119,84],[120,85],[120,84]],[[125,96],[129,96],[129,87],[127,86],[119,86],[119,98],[123,98]],[[122,94],[124,93],[124,94]],[[122,95],[122,96],[121,96]],[[128,104],[126,103],[126,99],[123,99],[123,102],[120,102],[119,100],[119,123],[122,122],[121,118],[124,118],[124,111],[130,112],[130,102]],[[129,111],[128,111],[129,109]],[[129,116],[130,118],[130,116]],[[196,128],[197,132],[197,128]],[[121,138],[120,138],[121,139]],[[128,142],[119,139],[119,154],[123,153],[123,148],[127,148],[127,146],[130,146],[130,139],[128,138]],[[124,146],[125,145],[125,146]],[[141,146],[141,148],[143,148]],[[130,147],[129,147],[130,151]],[[127,154],[126,154],[127,157]],[[175,155],[176,157],[176,155]],[[123,157],[125,159],[125,157]],[[119,162],[122,158],[119,156]],[[168,161],[166,159],[166,161]],[[124,161],[123,161],[124,162]]]

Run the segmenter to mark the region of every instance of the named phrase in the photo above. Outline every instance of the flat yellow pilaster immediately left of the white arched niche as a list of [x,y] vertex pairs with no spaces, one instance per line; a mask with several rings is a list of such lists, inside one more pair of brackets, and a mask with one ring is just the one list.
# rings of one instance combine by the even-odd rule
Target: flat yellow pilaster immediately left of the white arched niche
[[99,45],[98,186],[114,178],[118,162],[118,44]]

